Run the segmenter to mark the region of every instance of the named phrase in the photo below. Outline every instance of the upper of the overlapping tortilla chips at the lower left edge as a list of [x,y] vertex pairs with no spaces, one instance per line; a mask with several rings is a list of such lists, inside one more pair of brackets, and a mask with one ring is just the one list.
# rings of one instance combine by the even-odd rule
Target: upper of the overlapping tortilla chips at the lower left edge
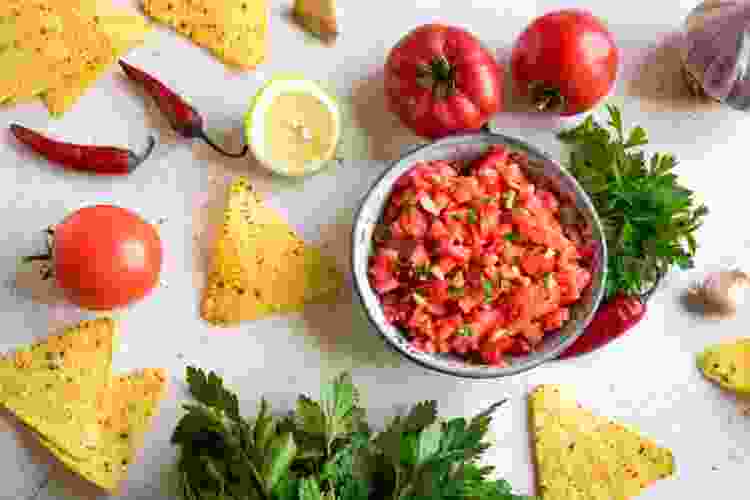
[[110,380],[116,323],[83,321],[0,358],[0,404],[76,459],[96,452],[96,396]]

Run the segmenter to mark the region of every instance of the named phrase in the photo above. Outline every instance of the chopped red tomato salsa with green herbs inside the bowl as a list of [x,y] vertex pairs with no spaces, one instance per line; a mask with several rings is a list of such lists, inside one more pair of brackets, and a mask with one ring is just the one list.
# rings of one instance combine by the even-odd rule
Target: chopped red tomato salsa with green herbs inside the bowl
[[387,320],[425,352],[495,366],[569,319],[591,282],[585,231],[493,146],[474,162],[418,163],[395,184],[375,233],[370,282]]

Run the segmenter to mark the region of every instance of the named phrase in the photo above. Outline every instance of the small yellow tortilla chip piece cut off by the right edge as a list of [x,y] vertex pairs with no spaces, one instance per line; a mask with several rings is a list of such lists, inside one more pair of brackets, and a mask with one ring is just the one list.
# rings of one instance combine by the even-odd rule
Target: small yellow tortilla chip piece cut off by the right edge
[[750,339],[707,348],[698,355],[698,368],[725,389],[750,393]]

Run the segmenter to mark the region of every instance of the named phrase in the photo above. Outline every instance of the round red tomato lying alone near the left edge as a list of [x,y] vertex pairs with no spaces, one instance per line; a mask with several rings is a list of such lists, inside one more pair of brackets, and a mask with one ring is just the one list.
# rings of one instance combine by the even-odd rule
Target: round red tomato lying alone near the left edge
[[85,207],[55,227],[57,284],[84,309],[111,310],[144,298],[159,281],[161,264],[156,229],[124,208]]

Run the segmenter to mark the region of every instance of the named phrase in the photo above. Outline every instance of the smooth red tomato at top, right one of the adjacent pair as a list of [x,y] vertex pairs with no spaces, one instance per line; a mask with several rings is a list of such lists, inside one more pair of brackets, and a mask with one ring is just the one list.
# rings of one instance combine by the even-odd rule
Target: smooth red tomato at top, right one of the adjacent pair
[[516,87],[537,108],[563,116],[589,110],[617,77],[618,50],[612,34],[591,13],[566,9],[532,22],[516,41],[511,70]]

